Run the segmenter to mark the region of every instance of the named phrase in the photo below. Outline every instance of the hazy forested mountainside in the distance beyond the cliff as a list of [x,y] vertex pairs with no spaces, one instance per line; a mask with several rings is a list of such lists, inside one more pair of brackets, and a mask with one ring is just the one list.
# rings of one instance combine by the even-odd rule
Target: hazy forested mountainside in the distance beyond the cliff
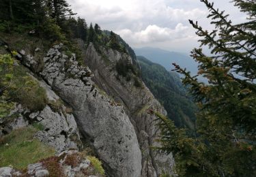
[[186,90],[182,86],[180,77],[145,57],[137,57],[137,59],[141,66],[143,81],[165,107],[168,117],[174,120],[178,127],[187,127],[194,131],[197,107],[186,96]]

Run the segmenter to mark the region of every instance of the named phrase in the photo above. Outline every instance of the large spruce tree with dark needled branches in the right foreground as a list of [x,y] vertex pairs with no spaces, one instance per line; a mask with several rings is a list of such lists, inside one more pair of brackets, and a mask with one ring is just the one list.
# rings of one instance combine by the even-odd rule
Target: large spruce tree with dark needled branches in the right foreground
[[173,64],[199,106],[199,137],[187,138],[170,120],[157,115],[160,150],[173,152],[179,176],[256,176],[256,2],[234,0],[248,14],[248,21],[233,25],[225,12],[201,1],[216,29],[209,32],[192,20],[190,24],[197,29],[201,45],[209,46],[215,55],[208,57],[195,48],[192,57],[199,63],[198,74],[209,84]]

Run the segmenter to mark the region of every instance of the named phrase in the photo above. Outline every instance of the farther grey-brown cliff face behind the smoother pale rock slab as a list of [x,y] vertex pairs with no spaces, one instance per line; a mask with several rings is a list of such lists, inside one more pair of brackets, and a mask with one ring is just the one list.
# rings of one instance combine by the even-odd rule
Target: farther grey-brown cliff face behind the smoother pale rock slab
[[138,88],[134,86],[132,80],[127,82],[122,76],[117,79],[117,71],[115,71],[117,61],[124,60],[132,64],[132,59],[128,54],[103,48],[102,52],[104,56],[108,57],[107,59],[103,59],[96,52],[93,44],[89,44],[85,52],[85,63],[94,71],[94,82],[108,95],[114,97],[115,101],[121,102],[125,106],[126,114],[130,117],[136,130],[142,151],[141,176],[160,176],[162,171],[172,174],[173,157],[171,155],[158,155],[150,148],[150,146],[158,145],[154,142],[158,131],[152,122],[155,117],[147,114],[147,110],[152,109],[161,114],[167,114],[165,109],[154,98],[145,84]]

